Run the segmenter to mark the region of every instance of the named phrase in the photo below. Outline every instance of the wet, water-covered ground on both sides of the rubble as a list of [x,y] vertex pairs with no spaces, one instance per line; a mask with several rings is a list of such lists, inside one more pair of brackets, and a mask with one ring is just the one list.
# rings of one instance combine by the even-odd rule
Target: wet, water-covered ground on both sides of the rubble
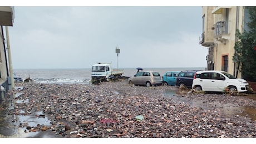
[[[16,88],[22,89],[22,88]],[[22,115],[24,111],[19,111],[18,115],[8,114],[8,110],[14,109],[15,104],[29,102],[28,99],[14,100],[15,97],[20,96],[22,93],[8,95],[8,101],[6,106],[8,109],[0,110],[0,137],[41,137],[41,138],[57,138],[62,137],[57,135],[54,131],[44,130],[43,126],[51,127],[52,123],[48,120],[47,116],[42,111],[35,114]],[[220,94],[221,95],[221,94]],[[180,95],[180,91],[168,89],[164,92],[165,97],[173,97],[173,101],[176,103],[186,104],[193,107],[201,107],[205,111],[209,109],[209,105],[219,106],[225,115],[242,115],[250,117],[252,120],[256,120],[256,107],[242,106],[238,107],[233,104],[219,104],[219,102],[207,102],[203,100],[188,100],[186,97]],[[249,99],[256,100],[256,96],[247,96]],[[210,107],[211,107],[210,106]],[[244,112],[239,112],[244,111]],[[18,127],[18,128],[17,128]],[[32,127],[28,130],[28,127]],[[40,128],[38,128],[40,127]]]

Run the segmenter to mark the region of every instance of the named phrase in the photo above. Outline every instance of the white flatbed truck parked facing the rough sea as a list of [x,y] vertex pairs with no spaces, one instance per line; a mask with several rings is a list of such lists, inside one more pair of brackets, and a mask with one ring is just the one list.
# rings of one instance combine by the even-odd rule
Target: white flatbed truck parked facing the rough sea
[[111,63],[97,63],[92,65],[91,82],[118,79],[124,74],[124,69],[113,69]]

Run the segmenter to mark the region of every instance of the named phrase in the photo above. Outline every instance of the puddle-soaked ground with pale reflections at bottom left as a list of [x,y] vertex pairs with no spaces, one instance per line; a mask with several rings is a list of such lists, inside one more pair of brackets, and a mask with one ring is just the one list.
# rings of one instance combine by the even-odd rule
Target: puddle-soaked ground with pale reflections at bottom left
[[[16,95],[9,95],[11,100],[9,101],[9,107],[6,110],[0,111],[0,137],[42,137],[42,138],[61,138],[62,136],[56,135],[55,132],[51,130],[41,131],[39,128],[43,126],[52,126],[51,121],[48,120],[43,112],[35,112],[29,115],[25,111],[21,110],[18,113],[21,115],[9,115],[8,110],[14,109],[14,105],[17,103],[29,103],[29,99],[24,100],[14,100],[13,97],[18,97],[22,93]],[[38,130],[29,131],[27,127],[32,127]]]

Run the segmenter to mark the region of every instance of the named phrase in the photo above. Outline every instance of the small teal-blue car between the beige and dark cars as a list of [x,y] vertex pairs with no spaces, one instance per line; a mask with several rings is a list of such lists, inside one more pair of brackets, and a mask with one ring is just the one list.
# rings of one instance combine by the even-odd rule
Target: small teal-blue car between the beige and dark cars
[[164,85],[176,85],[176,78],[180,71],[166,71],[163,76],[163,84]]

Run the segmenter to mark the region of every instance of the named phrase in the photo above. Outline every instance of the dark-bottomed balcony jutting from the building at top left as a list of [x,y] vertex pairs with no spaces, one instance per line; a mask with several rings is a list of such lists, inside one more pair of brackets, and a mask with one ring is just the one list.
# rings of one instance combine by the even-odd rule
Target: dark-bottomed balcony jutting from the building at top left
[[13,7],[0,7],[0,25],[13,26]]

